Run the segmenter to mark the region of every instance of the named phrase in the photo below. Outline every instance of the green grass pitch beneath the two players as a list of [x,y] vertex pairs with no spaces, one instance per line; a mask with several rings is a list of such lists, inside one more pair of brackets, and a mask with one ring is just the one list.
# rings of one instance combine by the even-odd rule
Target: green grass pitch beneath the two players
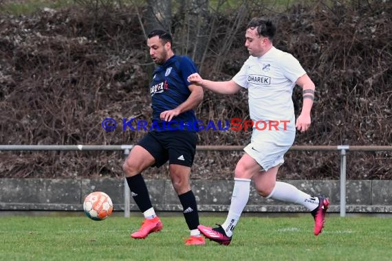
[[[138,216],[138,217],[135,217]],[[182,216],[162,216],[164,229],[129,237],[140,215],[93,221],[85,216],[0,216],[0,260],[391,260],[392,218],[330,216],[312,234],[311,216],[241,218],[228,247],[186,247]],[[204,225],[224,216],[202,215]]]

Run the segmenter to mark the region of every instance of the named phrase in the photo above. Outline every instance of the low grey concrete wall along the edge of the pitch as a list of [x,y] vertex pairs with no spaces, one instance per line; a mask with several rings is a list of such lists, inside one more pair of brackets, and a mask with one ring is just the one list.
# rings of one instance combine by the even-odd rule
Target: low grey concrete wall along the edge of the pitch
[[[340,212],[340,181],[286,181],[314,196],[328,196],[329,212]],[[169,180],[147,180],[156,211],[181,211]],[[193,180],[200,211],[227,212],[233,181]],[[115,211],[124,209],[123,179],[0,179],[0,210],[82,211],[93,191],[111,196]],[[392,181],[347,181],[347,213],[392,213]],[[131,210],[138,211],[131,198]],[[307,212],[302,206],[262,198],[251,185],[246,212]]]

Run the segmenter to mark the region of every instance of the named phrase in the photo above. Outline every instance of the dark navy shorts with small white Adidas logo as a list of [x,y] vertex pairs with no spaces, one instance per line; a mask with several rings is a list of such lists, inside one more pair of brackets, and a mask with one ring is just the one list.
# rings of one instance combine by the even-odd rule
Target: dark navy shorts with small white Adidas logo
[[192,131],[150,131],[138,145],[155,159],[153,167],[159,168],[166,161],[191,167],[195,158],[197,134]]

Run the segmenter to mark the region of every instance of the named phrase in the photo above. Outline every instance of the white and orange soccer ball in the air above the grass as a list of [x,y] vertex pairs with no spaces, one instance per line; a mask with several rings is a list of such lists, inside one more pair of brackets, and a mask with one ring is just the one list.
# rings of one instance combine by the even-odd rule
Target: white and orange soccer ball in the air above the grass
[[104,220],[111,215],[113,203],[106,193],[96,191],[86,196],[83,209],[92,220]]

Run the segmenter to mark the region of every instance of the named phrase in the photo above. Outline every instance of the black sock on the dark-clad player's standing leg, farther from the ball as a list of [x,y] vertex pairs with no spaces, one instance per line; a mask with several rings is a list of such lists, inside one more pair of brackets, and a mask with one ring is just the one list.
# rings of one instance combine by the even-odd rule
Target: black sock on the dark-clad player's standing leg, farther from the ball
[[183,214],[189,230],[197,229],[199,223],[199,214],[197,213],[196,198],[192,190],[178,195],[179,202],[181,202]]

